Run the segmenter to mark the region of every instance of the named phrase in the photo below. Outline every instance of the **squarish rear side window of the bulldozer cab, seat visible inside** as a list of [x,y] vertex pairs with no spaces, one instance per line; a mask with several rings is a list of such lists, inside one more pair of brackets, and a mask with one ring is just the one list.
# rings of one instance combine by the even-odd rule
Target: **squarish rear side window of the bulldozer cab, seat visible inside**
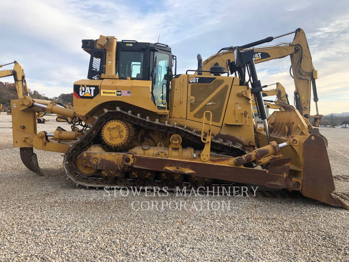
[[118,63],[116,67],[119,78],[143,78],[143,52],[120,51],[120,57],[117,61]]

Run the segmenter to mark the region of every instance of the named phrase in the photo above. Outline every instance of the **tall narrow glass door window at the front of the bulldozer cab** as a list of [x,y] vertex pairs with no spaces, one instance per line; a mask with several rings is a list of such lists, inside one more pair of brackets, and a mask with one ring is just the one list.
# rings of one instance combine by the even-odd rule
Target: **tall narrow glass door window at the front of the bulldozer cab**
[[[153,100],[166,101],[166,86],[169,85],[168,71],[170,66],[169,54],[160,52],[154,53],[154,73],[153,73]],[[165,77],[166,76],[166,77]],[[158,107],[165,107],[165,102],[157,102]]]

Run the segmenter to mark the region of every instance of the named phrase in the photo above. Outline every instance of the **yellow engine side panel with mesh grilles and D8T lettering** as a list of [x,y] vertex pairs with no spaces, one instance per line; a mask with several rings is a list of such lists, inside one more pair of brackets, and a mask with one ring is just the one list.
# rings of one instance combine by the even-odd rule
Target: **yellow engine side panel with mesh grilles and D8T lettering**
[[203,113],[211,111],[212,125],[222,126],[232,81],[232,77],[188,75],[187,119],[202,123]]

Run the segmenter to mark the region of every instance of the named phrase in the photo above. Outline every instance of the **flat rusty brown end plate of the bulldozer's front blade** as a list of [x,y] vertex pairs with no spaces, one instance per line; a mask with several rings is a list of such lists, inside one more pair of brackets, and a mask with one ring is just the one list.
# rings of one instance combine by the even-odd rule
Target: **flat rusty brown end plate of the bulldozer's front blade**
[[325,140],[311,134],[303,143],[302,194],[318,201],[349,209],[349,206],[332,195],[335,190]]

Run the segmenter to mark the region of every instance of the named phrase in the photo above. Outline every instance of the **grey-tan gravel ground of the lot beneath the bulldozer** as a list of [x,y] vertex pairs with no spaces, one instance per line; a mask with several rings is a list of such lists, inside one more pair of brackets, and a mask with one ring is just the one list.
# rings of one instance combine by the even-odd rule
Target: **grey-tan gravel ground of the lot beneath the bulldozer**
[[[38,131],[54,131],[54,117]],[[0,115],[0,261],[349,261],[349,211],[287,191],[256,197],[126,195],[66,180],[59,153],[36,151],[48,174],[24,167]],[[348,194],[349,129],[322,128],[336,191]],[[136,211],[133,201],[230,201],[230,210]],[[348,201],[347,201],[348,203]],[[137,206],[137,202],[135,204]]]

